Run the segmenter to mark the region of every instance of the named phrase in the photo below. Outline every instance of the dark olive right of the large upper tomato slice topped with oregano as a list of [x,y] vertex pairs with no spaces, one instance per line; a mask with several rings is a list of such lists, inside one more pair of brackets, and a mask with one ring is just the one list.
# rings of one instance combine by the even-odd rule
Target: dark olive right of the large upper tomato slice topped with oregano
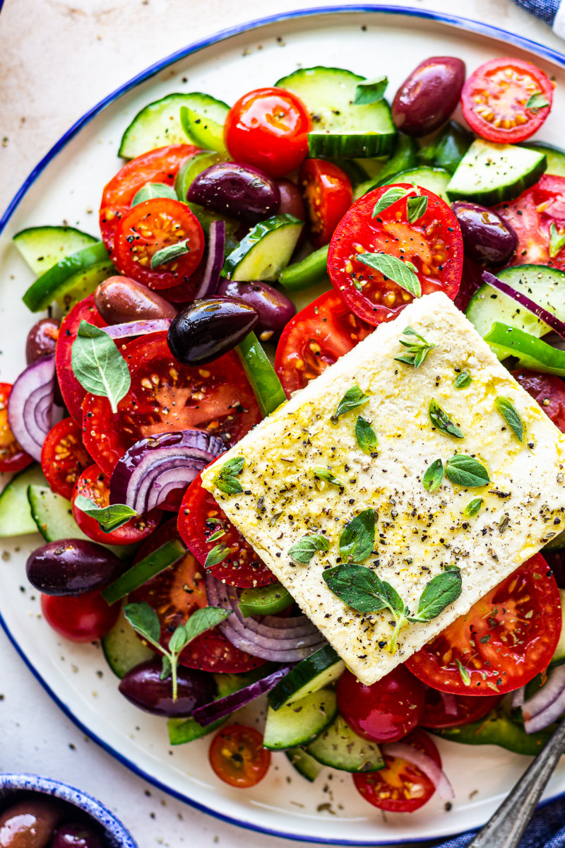
[[518,247],[518,236],[511,224],[492,209],[457,200],[451,204],[461,234],[465,256],[479,265],[502,265]]

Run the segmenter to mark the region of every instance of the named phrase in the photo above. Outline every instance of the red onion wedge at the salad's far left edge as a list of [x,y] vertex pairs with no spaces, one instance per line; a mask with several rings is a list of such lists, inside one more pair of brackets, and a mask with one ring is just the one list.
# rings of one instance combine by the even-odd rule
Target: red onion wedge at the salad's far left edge
[[55,356],[44,356],[19,375],[8,398],[8,424],[21,448],[37,462],[45,437],[63,410],[53,404]]

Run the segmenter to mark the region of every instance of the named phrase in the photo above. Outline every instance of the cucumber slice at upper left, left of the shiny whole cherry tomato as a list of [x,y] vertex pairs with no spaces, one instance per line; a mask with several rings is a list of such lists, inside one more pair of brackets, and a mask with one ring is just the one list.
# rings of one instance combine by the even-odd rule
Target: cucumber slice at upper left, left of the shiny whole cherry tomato
[[[162,148],[166,144],[186,144],[186,133],[180,126],[180,107],[188,106],[211,117],[219,114],[219,107],[228,107],[209,94],[191,92],[168,94],[161,100],[149,103],[136,114],[127,127],[119,145],[118,155],[124,159],[135,159],[148,150]],[[216,117],[215,120],[224,120]]]

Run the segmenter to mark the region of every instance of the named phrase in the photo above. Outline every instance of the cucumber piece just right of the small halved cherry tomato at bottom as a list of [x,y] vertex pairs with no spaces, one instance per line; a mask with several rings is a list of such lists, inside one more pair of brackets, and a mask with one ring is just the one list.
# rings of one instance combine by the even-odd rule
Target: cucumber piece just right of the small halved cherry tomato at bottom
[[278,711],[269,706],[263,748],[282,750],[308,745],[333,722],[337,713],[335,692],[320,689]]

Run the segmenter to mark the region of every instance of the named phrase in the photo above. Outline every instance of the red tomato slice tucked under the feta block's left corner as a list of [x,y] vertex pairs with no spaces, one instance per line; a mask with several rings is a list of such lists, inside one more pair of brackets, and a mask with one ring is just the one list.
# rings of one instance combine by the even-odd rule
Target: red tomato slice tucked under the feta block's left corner
[[216,545],[224,544],[230,553],[224,561],[210,566],[214,577],[247,589],[274,583],[273,572],[259,559],[228,516],[219,508],[213,496],[202,488],[202,475],[194,478],[186,489],[179,511],[179,533],[188,550],[202,563]]

